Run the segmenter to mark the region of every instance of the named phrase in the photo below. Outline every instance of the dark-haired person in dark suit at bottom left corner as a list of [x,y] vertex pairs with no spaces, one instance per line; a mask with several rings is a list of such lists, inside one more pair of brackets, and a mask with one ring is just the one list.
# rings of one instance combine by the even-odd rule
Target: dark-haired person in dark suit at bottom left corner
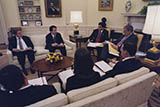
[[24,107],[57,94],[53,86],[32,86],[15,65],[0,70],[0,105],[2,107]]

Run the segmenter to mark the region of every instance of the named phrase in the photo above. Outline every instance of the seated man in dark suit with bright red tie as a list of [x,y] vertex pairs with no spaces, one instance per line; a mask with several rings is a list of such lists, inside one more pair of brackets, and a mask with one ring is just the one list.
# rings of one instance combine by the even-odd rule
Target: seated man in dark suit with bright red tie
[[[96,43],[102,43],[104,42],[105,40],[109,40],[108,38],[108,31],[105,29],[106,28],[106,24],[104,22],[100,22],[98,24],[98,29],[95,29],[91,36],[89,37],[89,40],[88,42],[96,42]],[[97,59],[99,60],[99,57],[101,55],[101,47],[97,47],[96,50],[97,50]],[[88,50],[93,50],[92,47],[88,47]]]

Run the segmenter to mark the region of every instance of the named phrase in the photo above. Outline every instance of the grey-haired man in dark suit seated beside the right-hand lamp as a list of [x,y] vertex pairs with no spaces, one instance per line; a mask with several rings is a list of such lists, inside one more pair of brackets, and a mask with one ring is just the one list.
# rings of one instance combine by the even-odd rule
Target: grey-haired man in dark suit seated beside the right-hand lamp
[[[123,37],[120,37],[116,41],[117,44],[110,42],[110,44],[113,46],[113,48],[115,48],[119,52],[120,52],[120,48],[121,48],[122,44],[124,44],[126,42],[131,42],[131,43],[137,45],[137,42],[138,42],[137,36],[133,34],[133,26],[132,25],[127,24],[126,26],[124,26],[123,33],[124,33]],[[102,48],[100,59],[106,60],[110,56],[111,55],[109,54],[108,44],[105,44],[104,47]]]

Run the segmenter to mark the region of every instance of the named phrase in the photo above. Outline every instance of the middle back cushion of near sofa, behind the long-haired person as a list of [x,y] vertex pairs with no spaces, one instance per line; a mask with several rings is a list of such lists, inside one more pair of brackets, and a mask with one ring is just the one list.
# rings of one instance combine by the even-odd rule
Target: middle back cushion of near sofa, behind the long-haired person
[[115,87],[116,85],[117,81],[114,78],[108,78],[89,87],[69,91],[67,96],[69,98],[69,102],[71,103],[98,94],[102,91]]

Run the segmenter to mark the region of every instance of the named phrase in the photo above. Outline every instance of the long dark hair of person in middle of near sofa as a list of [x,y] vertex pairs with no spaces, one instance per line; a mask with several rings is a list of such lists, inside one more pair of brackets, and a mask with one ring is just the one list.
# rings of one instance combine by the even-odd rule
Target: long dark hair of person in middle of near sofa
[[[75,75],[91,75],[93,71],[93,60],[90,52],[86,48],[79,48],[74,56]],[[94,72],[94,71],[93,71]]]

